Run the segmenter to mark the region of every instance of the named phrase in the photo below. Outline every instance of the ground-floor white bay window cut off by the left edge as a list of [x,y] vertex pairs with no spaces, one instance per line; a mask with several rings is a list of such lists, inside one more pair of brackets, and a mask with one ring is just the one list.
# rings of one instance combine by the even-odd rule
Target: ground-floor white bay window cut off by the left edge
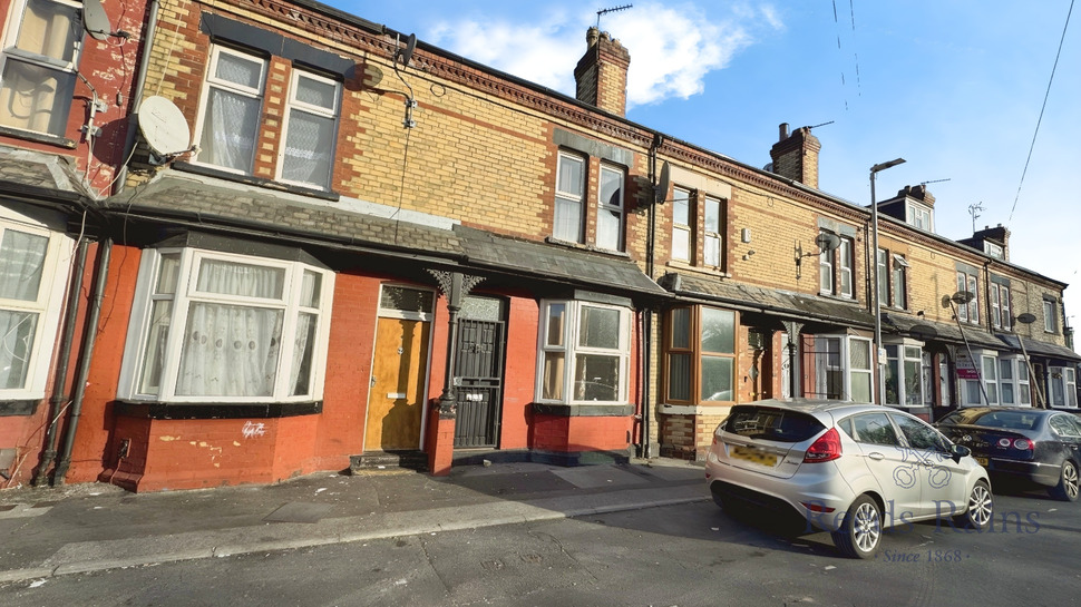
[[45,395],[67,252],[70,241],[55,232],[0,221],[0,401]]

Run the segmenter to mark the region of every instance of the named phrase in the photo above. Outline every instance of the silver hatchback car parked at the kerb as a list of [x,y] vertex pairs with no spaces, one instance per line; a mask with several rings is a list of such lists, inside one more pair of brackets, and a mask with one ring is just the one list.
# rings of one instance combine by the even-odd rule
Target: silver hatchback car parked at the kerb
[[722,508],[792,511],[847,556],[873,558],[883,529],[951,519],[991,526],[987,471],[923,420],[874,404],[767,400],[732,408],[705,479]]

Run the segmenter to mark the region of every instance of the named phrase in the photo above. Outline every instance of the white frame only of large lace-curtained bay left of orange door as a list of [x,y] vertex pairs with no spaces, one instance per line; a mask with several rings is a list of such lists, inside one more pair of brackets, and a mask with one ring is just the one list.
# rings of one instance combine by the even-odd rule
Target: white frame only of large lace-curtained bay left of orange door
[[[162,261],[176,258],[176,281],[172,293],[158,291]],[[199,264],[204,261],[257,266],[283,272],[282,296],[246,297],[198,291]],[[303,278],[308,273],[319,276],[319,290],[313,293],[315,306],[302,301]],[[139,266],[133,313],[128,325],[127,341],[118,384],[118,398],[130,401],[166,403],[249,403],[249,402],[308,402],[318,401],[323,395],[325,380],[327,351],[330,337],[330,315],[333,305],[335,275],[332,271],[304,264],[269,257],[220,253],[194,247],[148,248],[144,249]],[[155,319],[152,319],[154,302],[171,302],[171,310],[162,315],[164,335],[159,335],[159,346],[164,346],[159,366],[159,380],[154,390],[144,390],[144,365],[149,340],[153,336]],[[183,341],[187,333],[188,311],[193,303],[221,304],[225,306],[249,306],[262,310],[282,311],[275,381],[270,395],[183,395],[177,394],[181,359],[184,353]],[[290,385],[291,353],[295,344],[300,315],[314,315],[315,345],[309,368],[306,393],[292,394]],[[179,330],[176,330],[179,327]]]

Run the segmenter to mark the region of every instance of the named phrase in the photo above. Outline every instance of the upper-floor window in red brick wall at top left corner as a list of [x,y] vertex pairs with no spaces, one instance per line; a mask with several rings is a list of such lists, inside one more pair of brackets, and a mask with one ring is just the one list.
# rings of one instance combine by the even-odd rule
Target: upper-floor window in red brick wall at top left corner
[[0,58],[0,126],[62,137],[82,46],[82,4],[16,0]]

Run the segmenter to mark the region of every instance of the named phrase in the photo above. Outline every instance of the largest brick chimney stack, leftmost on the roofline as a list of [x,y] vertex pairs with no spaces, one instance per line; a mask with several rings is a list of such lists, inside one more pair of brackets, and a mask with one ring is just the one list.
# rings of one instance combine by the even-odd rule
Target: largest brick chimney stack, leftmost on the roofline
[[574,68],[575,97],[597,109],[626,116],[626,70],[631,53],[608,32],[590,28],[587,48]]

